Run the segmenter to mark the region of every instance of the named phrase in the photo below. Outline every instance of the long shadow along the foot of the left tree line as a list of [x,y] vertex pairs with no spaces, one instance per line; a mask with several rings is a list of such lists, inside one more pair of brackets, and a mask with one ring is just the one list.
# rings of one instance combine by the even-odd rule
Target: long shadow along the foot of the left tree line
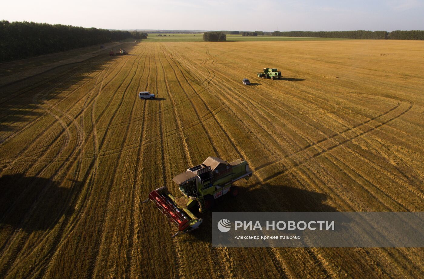
[[[132,48],[131,44],[125,47],[128,51]],[[45,113],[45,110],[39,107],[40,104],[57,99],[59,94],[75,83],[82,85],[86,81],[95,80],[92,72],[106,69],[114,61],[123,58],[125,55],[110,56],[102,53],[86,61],[58,66],[23,80],[0,85],[0,130],[10,132],[20,129],[22,125],[18,122],[31,122]],[[12,77],[12,74],[10,76]],[[78,101],[78,97],[73,98],[74,103],[75,101]],[[6,133],[5,137],[8,134]],[[4,140],[5,138],[0,137],[0,144]]]

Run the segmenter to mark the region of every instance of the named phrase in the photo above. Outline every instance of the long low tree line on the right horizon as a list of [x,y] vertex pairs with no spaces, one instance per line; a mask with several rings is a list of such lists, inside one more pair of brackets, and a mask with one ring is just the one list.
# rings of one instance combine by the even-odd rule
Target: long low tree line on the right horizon
[[343,39],[392,39],[392,40],[424,40],[424,31],[274,31],[272,36],[316,37]]

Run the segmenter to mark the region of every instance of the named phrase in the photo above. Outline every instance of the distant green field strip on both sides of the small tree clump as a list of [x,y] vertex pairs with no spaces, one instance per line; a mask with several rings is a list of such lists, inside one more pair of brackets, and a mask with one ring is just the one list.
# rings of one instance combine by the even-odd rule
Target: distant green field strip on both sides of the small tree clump
[[[166,35],[164,37],[163,35]],[[147,39],[142,42],[165,42],[165,41],[203,41],[203,34],[166,34],[161,37],[159,34],[148,33]],[[275,37],[275,36],[241,36],[227,35],[227,41],[328,41],[328,40],[349,40],[337,38],[307,38],[307,37]]]

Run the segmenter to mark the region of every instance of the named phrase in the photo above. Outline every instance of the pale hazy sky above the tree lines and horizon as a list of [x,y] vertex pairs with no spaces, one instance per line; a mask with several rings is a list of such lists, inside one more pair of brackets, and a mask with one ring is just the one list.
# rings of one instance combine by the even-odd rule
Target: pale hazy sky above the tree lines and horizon
[[424,30],[424,0],[17,0],[0,19],[105,29]]

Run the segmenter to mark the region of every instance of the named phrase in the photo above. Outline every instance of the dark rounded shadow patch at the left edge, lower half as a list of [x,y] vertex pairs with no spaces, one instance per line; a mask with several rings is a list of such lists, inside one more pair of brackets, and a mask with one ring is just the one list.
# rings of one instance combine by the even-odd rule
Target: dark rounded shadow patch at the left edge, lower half
[[0,228],[11,226],[28,233],[53,228],[63,215],[73,213],[72,196],[82,188],[75,180],[64,183],[69,187],[24,174],[0,177]]

